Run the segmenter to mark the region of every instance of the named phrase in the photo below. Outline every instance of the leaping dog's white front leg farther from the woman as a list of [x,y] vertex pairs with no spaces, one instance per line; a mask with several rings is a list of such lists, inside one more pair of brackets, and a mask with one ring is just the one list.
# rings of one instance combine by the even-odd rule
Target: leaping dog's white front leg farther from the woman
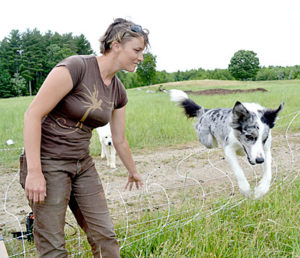
[[272,155],[270,148],[265,150],[265,162],[263,164],[263,176],[257,187],[254,190],[254,198],[263,197],[270,189],[272,180]]

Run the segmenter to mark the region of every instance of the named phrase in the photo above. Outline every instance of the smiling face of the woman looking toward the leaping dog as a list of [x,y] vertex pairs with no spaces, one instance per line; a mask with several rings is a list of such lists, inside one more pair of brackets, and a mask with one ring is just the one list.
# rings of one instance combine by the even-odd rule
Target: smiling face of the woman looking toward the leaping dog
[[134,72],[139,62],[142,62],[145,43],[143,37],[132,38],[120,45],[119,61],[121,69]]

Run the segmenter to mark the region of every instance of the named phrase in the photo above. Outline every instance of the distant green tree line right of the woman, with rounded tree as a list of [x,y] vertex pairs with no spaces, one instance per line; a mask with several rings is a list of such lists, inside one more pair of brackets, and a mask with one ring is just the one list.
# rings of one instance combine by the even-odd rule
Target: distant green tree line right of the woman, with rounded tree
[[[214,69],[204,70],[191,69],[187,71],[177,71],[167,73],[166,71],[156,71],[152,77],[147,80],[142,80],[143,77],[139,76],[139,67],[145,66],[146,62],[152,62],[154,69],[156,64],[156,57],[151,53],[145,54],[144,62],[139,64],[136,73],[126,74],[123,72],[123,83],[128,88],[139,87],[143,85],[159,84],[165,82],[186,81],[186,80],[252,80],[252,81],[265,81],[265,80],[295,80],[300,79],[300,65],[282,67],[282,66],[269,66],[261,67],[257,54],[251,50],[239,50],[234,53],[233,57],[228,64],[228,69]],[[149,61],[150,60],[150,61]],[[149,67],[149,65],[148,65]],[[145,70],[145,68],[143,68]],[[140,77],[140,79],[138,79]]]

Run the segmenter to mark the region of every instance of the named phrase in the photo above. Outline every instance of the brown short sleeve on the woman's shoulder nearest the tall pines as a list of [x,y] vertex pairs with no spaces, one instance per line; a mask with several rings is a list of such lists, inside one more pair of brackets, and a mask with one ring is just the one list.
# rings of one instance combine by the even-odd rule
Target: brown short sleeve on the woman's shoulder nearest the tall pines
[[82,76],[85,70],[85,63],[81,56],[76,55],[67,57],[56,65],[56,67],[59,66],[67,67],[73,81],[73,87],[78,85],[78,83],[82,80]]

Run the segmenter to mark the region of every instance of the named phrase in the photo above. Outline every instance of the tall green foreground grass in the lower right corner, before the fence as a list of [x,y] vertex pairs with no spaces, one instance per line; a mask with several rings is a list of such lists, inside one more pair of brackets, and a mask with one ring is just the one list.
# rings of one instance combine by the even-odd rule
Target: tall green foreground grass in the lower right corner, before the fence
[[123,257],[299,257],[299,193],[298,180],[260,201],[247,200],[211,216],[203,211],[190,223],[165,227],[127,246]]

